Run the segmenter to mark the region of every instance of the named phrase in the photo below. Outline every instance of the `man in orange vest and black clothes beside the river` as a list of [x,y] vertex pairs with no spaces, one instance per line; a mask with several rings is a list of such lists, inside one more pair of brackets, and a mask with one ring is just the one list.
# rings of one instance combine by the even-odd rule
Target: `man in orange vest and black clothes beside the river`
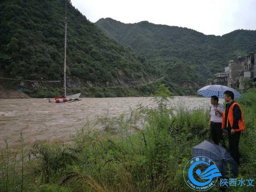
[[222,129],[228,132],[230,155],[239,164],[239,140],[241,131],[245,129],[244,116],[240,104],[234,102],[232,91],[225,91],[224,99],[227,104],[222,115]]

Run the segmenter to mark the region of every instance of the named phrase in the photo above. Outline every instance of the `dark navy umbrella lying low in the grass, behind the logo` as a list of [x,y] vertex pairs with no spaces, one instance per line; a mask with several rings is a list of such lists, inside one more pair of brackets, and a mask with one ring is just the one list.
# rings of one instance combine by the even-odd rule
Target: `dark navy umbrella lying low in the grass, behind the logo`
[[202,143],[193,147],[193,157],[204,156],[214,161],[220,170],[222,176],[227,175],[227,165],[230,164],[231,172],[234,177],[238,175],[237,162],[230,156],[226,149],[209,141],[203,141]]

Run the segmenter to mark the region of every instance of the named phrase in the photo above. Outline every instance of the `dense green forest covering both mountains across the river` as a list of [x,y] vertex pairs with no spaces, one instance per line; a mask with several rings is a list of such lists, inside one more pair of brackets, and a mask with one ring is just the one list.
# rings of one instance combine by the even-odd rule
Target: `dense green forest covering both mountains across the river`
[[[65,2],[1,2],[1,74],[17,80],[62,79]],[[67,2],[67,79],[72,88],[87,87],[85,96],[148,96],[156,89],[142,83],[161,77],[174,95],[196,95],[195,90],[223,71],[229,59],[256,51],[255,31],[214,36],[148,22],[122,24],[111,18],[100,19],[98,27]],[[16,87],[13,83],[8,89]],[[59,93],[51,86],[27,91],[33,97]]]

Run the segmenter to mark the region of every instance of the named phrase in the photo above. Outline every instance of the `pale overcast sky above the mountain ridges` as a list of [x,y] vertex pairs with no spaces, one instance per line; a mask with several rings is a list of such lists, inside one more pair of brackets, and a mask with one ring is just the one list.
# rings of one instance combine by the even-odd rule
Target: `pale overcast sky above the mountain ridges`
[[256,0],[71,0],[91,22],[111,17],[122,23],[142,20],[223,35],[256,30]]

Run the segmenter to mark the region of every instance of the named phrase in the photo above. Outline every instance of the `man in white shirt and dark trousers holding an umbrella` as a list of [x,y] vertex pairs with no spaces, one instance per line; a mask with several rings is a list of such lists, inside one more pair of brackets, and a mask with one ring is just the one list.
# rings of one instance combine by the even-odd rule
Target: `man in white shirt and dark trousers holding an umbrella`
[[210,133],[212,137],[212,141],[215,144],[219,144],[222,142],[222,146],[225,147],[225,142],[222,136],[222,114],[224,112],[224,107],[219,102],[219,98],[217,96],[211,96],[210,99],[211,107],[210,107]]

